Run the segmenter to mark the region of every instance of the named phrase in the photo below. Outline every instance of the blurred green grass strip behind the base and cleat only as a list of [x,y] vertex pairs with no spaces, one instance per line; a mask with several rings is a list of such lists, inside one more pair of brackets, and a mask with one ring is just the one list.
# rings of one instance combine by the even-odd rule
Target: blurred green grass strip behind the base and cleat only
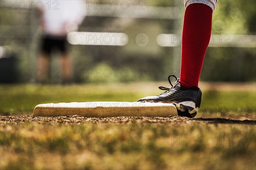
[[[165,83],[165,84],[164,84]],[[166,82],[105,83],[80,85],[0,85],[1,115],[32,114],[36,105],[58,102],[135,102],[144,96],[163,93]],[[202,83],[202,103],[198,116],[256,116],[256,84]],[[224,87],[224,88],[221,88]]]

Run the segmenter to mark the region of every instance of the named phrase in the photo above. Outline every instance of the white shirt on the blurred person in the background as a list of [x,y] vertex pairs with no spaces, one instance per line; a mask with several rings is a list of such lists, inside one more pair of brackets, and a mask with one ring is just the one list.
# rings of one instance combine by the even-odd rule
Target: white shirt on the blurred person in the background
[[86,14],[85,0],[44,0],[43,28],[46,34],[76,31]]

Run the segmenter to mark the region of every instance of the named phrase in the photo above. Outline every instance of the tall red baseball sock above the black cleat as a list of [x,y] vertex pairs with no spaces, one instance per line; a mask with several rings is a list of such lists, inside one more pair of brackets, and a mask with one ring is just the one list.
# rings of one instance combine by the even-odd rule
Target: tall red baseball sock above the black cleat
[[181,45],[180,84],[198,86],[212,29],[212,9],[200,3],[186,8]]

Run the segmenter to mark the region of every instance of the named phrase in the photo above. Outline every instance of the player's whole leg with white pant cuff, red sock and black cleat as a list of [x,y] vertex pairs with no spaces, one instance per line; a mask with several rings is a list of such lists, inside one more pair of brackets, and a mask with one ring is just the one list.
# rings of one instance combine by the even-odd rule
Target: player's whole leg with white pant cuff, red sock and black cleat
[[[183,21],[181,70],[180,79],[172,88],[157,96],[144,97],[138,102],[175,103],[182,116],[194,117],[201,104],[202,92],[198,88],[198,81],[204,61],[204,55],[209,44],[212,11],[215,10],[217,0],[184,0],[186,11]],[[171,76],[169,76],[170,78]]]

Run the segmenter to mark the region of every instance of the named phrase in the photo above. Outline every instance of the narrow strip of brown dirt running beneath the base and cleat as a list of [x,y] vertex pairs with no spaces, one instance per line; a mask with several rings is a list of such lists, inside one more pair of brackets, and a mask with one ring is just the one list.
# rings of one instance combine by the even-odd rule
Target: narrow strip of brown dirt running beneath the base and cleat
[[27,116],[0,116],[0,124],[24,124],[24,123],[40,123],[40,124],[83,124],[83,123],[224,123],[224,124],[253,124],[256,120],[233,120],[226,118],[187,118],[182,116],[169,117],[141,117],[141,116],[118,116],[107,118],[88,118],[78,115],[73,116],[52,116],[52,117],[32,117]]

